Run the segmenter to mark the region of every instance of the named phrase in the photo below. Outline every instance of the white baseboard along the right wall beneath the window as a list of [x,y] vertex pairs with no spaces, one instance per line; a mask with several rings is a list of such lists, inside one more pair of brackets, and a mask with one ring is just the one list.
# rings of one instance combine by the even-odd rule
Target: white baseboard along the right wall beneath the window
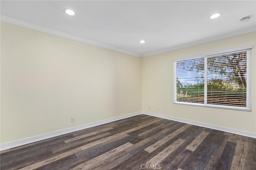
[[250,137],[250,138],[256,138],[256,133],[252,133],[252,132],[246,132],[246,131],[236,130],[236,129],[232,129],[232,128],[220,127],[220,126],[216,126],[216,125],[209,125],[209,124],[206,124],[206,123],[188,121],[188,120],[185,120],[185,119],[179,119],[179,118],[175,118],[175,117],[159,115],[159,114],[150,113],[150,112],[142,112],[142,114],[150,115],[150,116],[154,116],[154,117],[159,117],[159,118],[163,118],[163,119],[168,119],[168,120],[172,120],[172,121],[182,122],[182,123],[188,123],[190,125],[212,128],[212,129],[215,129],[215,130],[220,130],[220,131],[224,131],[224,132],[239,134],[239,135],[247,136],[247,137]]

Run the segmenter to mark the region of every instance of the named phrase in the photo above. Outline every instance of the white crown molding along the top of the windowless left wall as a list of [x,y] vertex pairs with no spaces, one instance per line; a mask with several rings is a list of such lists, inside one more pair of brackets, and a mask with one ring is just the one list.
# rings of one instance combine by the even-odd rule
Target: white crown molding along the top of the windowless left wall
[[106,48],[106,49],[111,49],[113,51],[126,53],[126,54],[133,55],[133,56],[136,56],[136,57],[142,57],[142,55],[137,54],[137,53],[133,53],[131,51],[126,51],[126,50],[123,50],[123,49],[120,49],[120,48],[116,48],[116,47],[113,47],[113,46],[110,46],[110,45],[106,45],[104,43],[99,43],[99,42],[95,42],[95,41],[88,40],[88,39],[85,39],[85,38],[81,38],[81,37],[78,37],[78,36],[73,36],[73,35],[70,35],[70,34],[66,34],[64,32],[59,32],[59,31],[56,31],[56,30],[52,30],[50,28],[46,28],[46,27],[35,25],[35,24],[31,24],[31,23],[28,23],[28,22],[24,22],[22,20],[17,20],[17,19],[14,19],[14,18],[10,18],[8,16],[0,15],[0,20],[4,21],[4,22],[11,23],[11,24],[15,24],[15,25],[18,25],[18,26],[23,26],[23,27],[26,27],[26,28],[30,28],[30,29],[33,29],[33,30],[46,32],[48,34],[53,34],[55,36],[60,36],[60,37],[68,38],[68,39],[71,39],[71,40],[76,40],[76,41],[79,41],[79,42],[88,43],[88,44],[91,44],[91,45],[95,45],[95,46]]

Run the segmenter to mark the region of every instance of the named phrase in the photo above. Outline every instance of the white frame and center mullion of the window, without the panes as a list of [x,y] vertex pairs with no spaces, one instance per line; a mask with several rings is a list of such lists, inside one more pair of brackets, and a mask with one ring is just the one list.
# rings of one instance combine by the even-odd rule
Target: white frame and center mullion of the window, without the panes
[[[179,59],[173,60],[173,85],[174,85],[174,104],[179,105],[192,105],[192,106],[201,106],[201,107],[210,107],[210,108],[219,108],[219,109],[228,109],[228,110],[238,110],[238,111],[252,111],[251,106],[251,97],[252,97],[252,89],[251,89],[251,58],[252,58],[252,48],[253,46],[245,46],[245,47],[239,47],[234,49],[228,49],[224,51],[218,51],[214,53],[207,53],[202,55],[196,55],[192,57],[184,57]],[[214,57],[218,55],[222,55],[225,53],[235,53],[236,51],[247,51],[246,54],[246,107],[242,106],[230,106],[230,105],[217,105],[217,104],[208,104],[207,103],[207,58],[208,57]],[[193,102],[184,102],[184,101],[176,101],[176,62],[186,59],[196,59],[204,57],[204,103],[193,103]]]

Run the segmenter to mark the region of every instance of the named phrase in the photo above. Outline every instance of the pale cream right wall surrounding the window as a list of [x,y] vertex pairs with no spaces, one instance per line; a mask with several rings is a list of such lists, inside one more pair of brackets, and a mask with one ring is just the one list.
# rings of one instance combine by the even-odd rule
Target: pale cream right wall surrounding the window
[[[253,45],[252,112],[173,104],[173,60]],[[256,32],[178,49],[142,59],[142,110],[170,117],[256,132]],[[151,107],[150,110],[148,107]],[[157,107],[160,111],[157,111]]]

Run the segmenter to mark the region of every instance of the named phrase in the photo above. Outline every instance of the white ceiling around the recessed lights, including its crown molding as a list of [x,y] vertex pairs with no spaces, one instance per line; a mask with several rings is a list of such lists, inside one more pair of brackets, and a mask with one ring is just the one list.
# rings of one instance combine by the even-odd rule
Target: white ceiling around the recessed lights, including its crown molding
[[[256,30],[256,1],[4,1],[1,20],[138,57]],[[64,13],[65,8],[76,12]],[[216,19],[210,14],[221,12]],[[249,22],[240,19],[250,16]],[[146,43],[140,44],[139,40]]]

